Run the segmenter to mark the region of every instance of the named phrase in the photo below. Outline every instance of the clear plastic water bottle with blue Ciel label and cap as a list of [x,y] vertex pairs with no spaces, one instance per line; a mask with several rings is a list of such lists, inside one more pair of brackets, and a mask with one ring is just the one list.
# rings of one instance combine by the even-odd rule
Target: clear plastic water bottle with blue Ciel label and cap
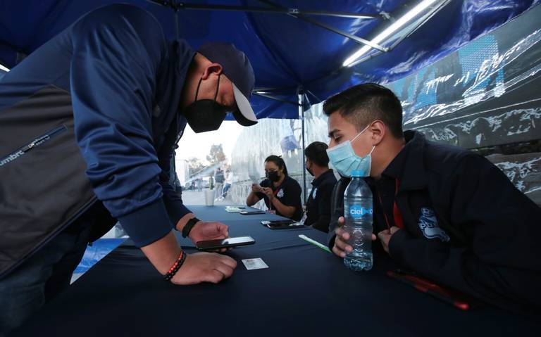
[[344,230],[349,233],[347,244],[353,251],[346,252],[344,265],[356,272],[372,269],[372,203],[370,187],[360,171],[353,171],[352,181],[344,193]]

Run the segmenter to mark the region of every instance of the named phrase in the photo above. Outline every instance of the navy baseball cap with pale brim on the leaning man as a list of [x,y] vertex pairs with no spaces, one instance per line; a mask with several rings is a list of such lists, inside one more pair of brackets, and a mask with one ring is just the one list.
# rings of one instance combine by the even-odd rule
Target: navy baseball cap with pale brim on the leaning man
[[238,109],[233,111],[235,120],[240,125],[249,127],[257,123],[257,117],[250,106],[248,98],[254,89],[256,79],[254,69],[244,53],[233,44],[223,42],[207,42],[199,47],[198,53],[213,63],[222,65],[223,73],[233,84],[233,94]]

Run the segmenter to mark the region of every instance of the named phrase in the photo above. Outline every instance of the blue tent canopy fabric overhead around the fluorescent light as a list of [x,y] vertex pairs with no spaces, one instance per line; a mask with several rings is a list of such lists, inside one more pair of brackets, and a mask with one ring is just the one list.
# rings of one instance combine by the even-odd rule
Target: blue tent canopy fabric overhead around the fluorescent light
[[[94,8],[114,0],[0,0],[0,63],[15,66],[22,56]],[[361,82],[391,82],[437,61],[439,58],[528,11],[541,0],[452,0],[410,37],[389,53],[342,68],[343,61],[360,44],[290,15],[242,11],[180,10],[178,32],[171,8],[145,0],[123,0],[153,13],[169,39],[187,39],[197,48],[206,41],[228,41],[247,53],[256,73],[256,88],[282,101],[252,95],[256,115],[296,118],[297,92],[309,103],[318,103],[338,91]],[[188,4],[259,6],[255,0],[191,0]],[[403,13],[418,0],[310,1],[273,0],[285,8],[349,13]],[[389,21],[310,16],[325,25],[371,39]],[[44,65],[46,66],[46,65]],[[287,101],[287,102],[285,102]]]

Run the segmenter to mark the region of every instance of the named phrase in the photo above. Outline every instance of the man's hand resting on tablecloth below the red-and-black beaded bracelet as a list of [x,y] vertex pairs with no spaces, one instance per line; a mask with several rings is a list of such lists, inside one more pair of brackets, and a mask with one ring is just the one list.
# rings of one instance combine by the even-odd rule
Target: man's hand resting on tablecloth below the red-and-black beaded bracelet
[[217,284],[233,274],[237,261],[226,255],[216,253],[195,253],[186,260],[171,282],[182,286],[211,282]]

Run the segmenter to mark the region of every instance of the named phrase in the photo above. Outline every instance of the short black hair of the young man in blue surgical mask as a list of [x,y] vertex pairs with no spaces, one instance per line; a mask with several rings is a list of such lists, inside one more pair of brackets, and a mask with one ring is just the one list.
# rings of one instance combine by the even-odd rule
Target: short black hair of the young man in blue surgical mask
[[380,84],[363,83],[328,98],[323,113],[338,112],[361,131],[374,120],[381,120],[395,138],[402,138],[402,105],[397,96]]

